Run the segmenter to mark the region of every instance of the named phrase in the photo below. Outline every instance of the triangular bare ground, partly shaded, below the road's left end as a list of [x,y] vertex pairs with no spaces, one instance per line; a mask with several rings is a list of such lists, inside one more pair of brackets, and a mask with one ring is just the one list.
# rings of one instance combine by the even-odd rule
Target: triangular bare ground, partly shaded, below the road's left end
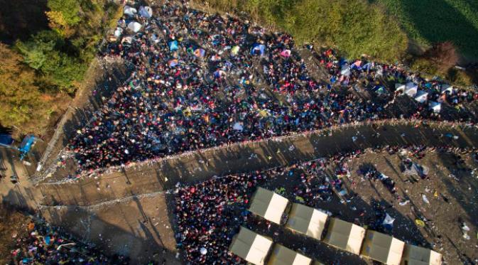
[[[76,239],[102,249],[109,256],[129,257],[129,264],[146,264],[150,261],[154,261],[154,264],[180,264],[170,250],[172,236],[168,232],[164,234],[164,229],[161,232],[163,222],[153,217],[157,215],[154,206],[151,202],[134,200],[126,205],[116,204],[104,209],[43,207],[40,214],[51,225],[61,227]],[[144,215],[146,219],[138,219],[136,213]],[[164,221],[168,224],[167,219]],[[156,222],[161,222],[161,225]]]

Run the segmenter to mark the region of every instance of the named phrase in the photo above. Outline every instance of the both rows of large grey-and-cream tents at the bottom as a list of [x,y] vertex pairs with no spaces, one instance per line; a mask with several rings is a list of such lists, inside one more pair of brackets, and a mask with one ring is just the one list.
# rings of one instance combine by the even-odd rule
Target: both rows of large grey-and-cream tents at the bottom
[[[430,249],[405,244],[401,240],[373,230],[366,230],[351,222],[329,217],[325,212],[301,205],[290,204],[281,195],[258,188],[251,199],[249,211],[281,225],[284,212],[288,212],[285,227],[344,251],[362,255],[391,265],[440,265],[442,255]],[[327,229],[326,229],[327,228]],[[322,239],[323,232],[326,231]],[[310,265],[312,259],[276,244],[260,234],[241,227],[234,236],[229,251],[252,264]],[[269,258],[268,258],[269,256]],[[285,256],[288,258],[286,259]],[[268,258],[268,259],[267,259]],[[278,263],[278,260],[282,262]],[[315,261],[315,264],[320,264]]]

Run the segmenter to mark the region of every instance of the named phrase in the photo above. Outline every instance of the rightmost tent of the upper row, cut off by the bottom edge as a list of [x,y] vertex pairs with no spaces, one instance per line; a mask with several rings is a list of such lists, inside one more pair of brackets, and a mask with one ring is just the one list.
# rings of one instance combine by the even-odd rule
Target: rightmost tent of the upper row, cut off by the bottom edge
[[424,247],[406,244],[401,264],[405,264],[405,261],[408,265],[441,265],[442,254]]

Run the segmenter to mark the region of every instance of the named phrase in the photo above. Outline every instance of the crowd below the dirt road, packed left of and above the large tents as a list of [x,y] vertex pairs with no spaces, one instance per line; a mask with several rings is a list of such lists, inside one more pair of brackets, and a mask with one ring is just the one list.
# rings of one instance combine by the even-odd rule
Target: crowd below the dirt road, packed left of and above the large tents
[[[428,148],[412,145],[376,147],[369,151],[374,153],[386,151],[390,154],[407,153],[407,156],[411,158],[421,159],[428,152],[454,152],[457,149],[452,146]],[[460,151],[476,152],[474,149],[460,149]],[[276,193],[286,196],[292,202],[320,209],[321,202],[330,202],[334,196],[342,197],[340,190],[344,183],[338,176],[347,175],[348,177],[345,178],[349,178],[346,162],[364,153],[366,150],[359,149],[288,167],[212,178],[195,185],[178,183],[173,192],[177,224],[175,238],[178,248],[185,255],[185,261],[187,264],[245,264],[245,261],[238,256],[228,252],[228,247],[240,225],[254,222],[251,212],[247,209],[256,187],[275,190]],[[327,173],[331,172],[327,168],[336,168],[335,175]],[[371,180],[380,180],[393,193],[393,198],[398,202],[403,200],[396,194],[393,180],[379,173],[376,168],[363,167],[359,175],[364,175]],[[282,179],[282,181],[275,182],[276,179]],[[353,185],[358,180],[349,178],[349,181]],[[353,200],[353,194],[349,198]],[[339,200],[342,199],[339,198]],[[378,229],[386,213],[378,208],[375,212],[374,217],[359,225]],[[337,215],[337,212],[333,212],[332,215]]]

